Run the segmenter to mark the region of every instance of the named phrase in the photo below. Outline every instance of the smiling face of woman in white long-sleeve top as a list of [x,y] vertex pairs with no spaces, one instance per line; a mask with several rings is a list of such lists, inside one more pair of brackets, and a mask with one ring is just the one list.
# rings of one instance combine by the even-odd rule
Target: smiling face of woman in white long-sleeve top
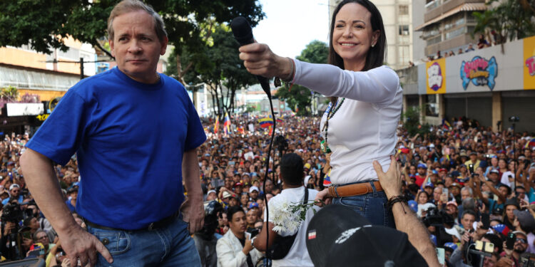
[[[346,70],[361,70],[370,47],[379,38],[372,30],[372,14],[364,6],[349,3],[342,6],[335,17],[332,47],[343,59]],[[360,69],[353,69],[360,66]]]

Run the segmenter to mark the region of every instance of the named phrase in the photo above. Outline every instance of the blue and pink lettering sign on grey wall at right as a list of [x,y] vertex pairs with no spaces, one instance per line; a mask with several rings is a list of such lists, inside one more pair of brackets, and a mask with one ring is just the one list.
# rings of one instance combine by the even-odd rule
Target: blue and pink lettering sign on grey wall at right
[[462,61],[461,63],[461,80],[464,90],[467,90],[470,82],[476,86],[487,85],[492,90],[496,85],[497,75],[498,64],[496,64],[494,56],[489,60],[475,56],[472,61]]

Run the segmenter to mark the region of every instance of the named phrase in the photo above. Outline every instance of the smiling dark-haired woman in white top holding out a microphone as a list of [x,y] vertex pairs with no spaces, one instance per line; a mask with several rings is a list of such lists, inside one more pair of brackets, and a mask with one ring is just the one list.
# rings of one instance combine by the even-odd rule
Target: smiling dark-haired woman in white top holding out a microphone
[[282,58],[265,44],[240,48],[250,73],[280,77],[335,97],[320,123],[332,150],[330,189],[317,199],[334,197],[372,224],[394,227],[387,197],[372,162],[386,171],[397,141],[402,88],[394,70],[383,66],[386,36],[377,7],[368,0],[345,0],[335,9],[330,28],[329,63]]

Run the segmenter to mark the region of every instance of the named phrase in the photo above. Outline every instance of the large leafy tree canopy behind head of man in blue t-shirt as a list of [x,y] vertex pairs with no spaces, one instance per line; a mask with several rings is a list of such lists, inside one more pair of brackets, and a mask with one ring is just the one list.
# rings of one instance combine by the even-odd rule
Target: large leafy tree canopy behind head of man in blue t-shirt
[[[67,50],[68,35],[91,43],[108,54],[107,19],[119,0],[2,0],[0,1],[0,46],[23,46],[42,53],[51,48]],[[146,0],[162,16],[169,43],[182,51],[202,53],[213,23],[230,22],[236,16],[262,20],[262,6],[256,0]],[[208,28],[208,31],[206,29]],[[203,34],[208,33],[208,34]],[[196,51],[200,48],[200,51]],[[180,64],[180,55],[175,56]],[[185,72],[178,69],[177,78]]]

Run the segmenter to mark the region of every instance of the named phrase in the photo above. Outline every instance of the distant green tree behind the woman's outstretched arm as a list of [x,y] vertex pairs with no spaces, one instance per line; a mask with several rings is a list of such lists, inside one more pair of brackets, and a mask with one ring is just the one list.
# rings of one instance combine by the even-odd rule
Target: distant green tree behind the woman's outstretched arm
[[[297,56],[297,59],[310,63],[327,63],[328,55],[329,47],[327,43],[315,40],[307,44],[305,49],[301,51],[301,55]],[[297,115],[310,114],[310,103],[313,95],[318,94],[301,85],[292,85],[292,88],[283,86],[278,88],[276,94],[277,98],[285,100],[290,108],[297,112]]]

